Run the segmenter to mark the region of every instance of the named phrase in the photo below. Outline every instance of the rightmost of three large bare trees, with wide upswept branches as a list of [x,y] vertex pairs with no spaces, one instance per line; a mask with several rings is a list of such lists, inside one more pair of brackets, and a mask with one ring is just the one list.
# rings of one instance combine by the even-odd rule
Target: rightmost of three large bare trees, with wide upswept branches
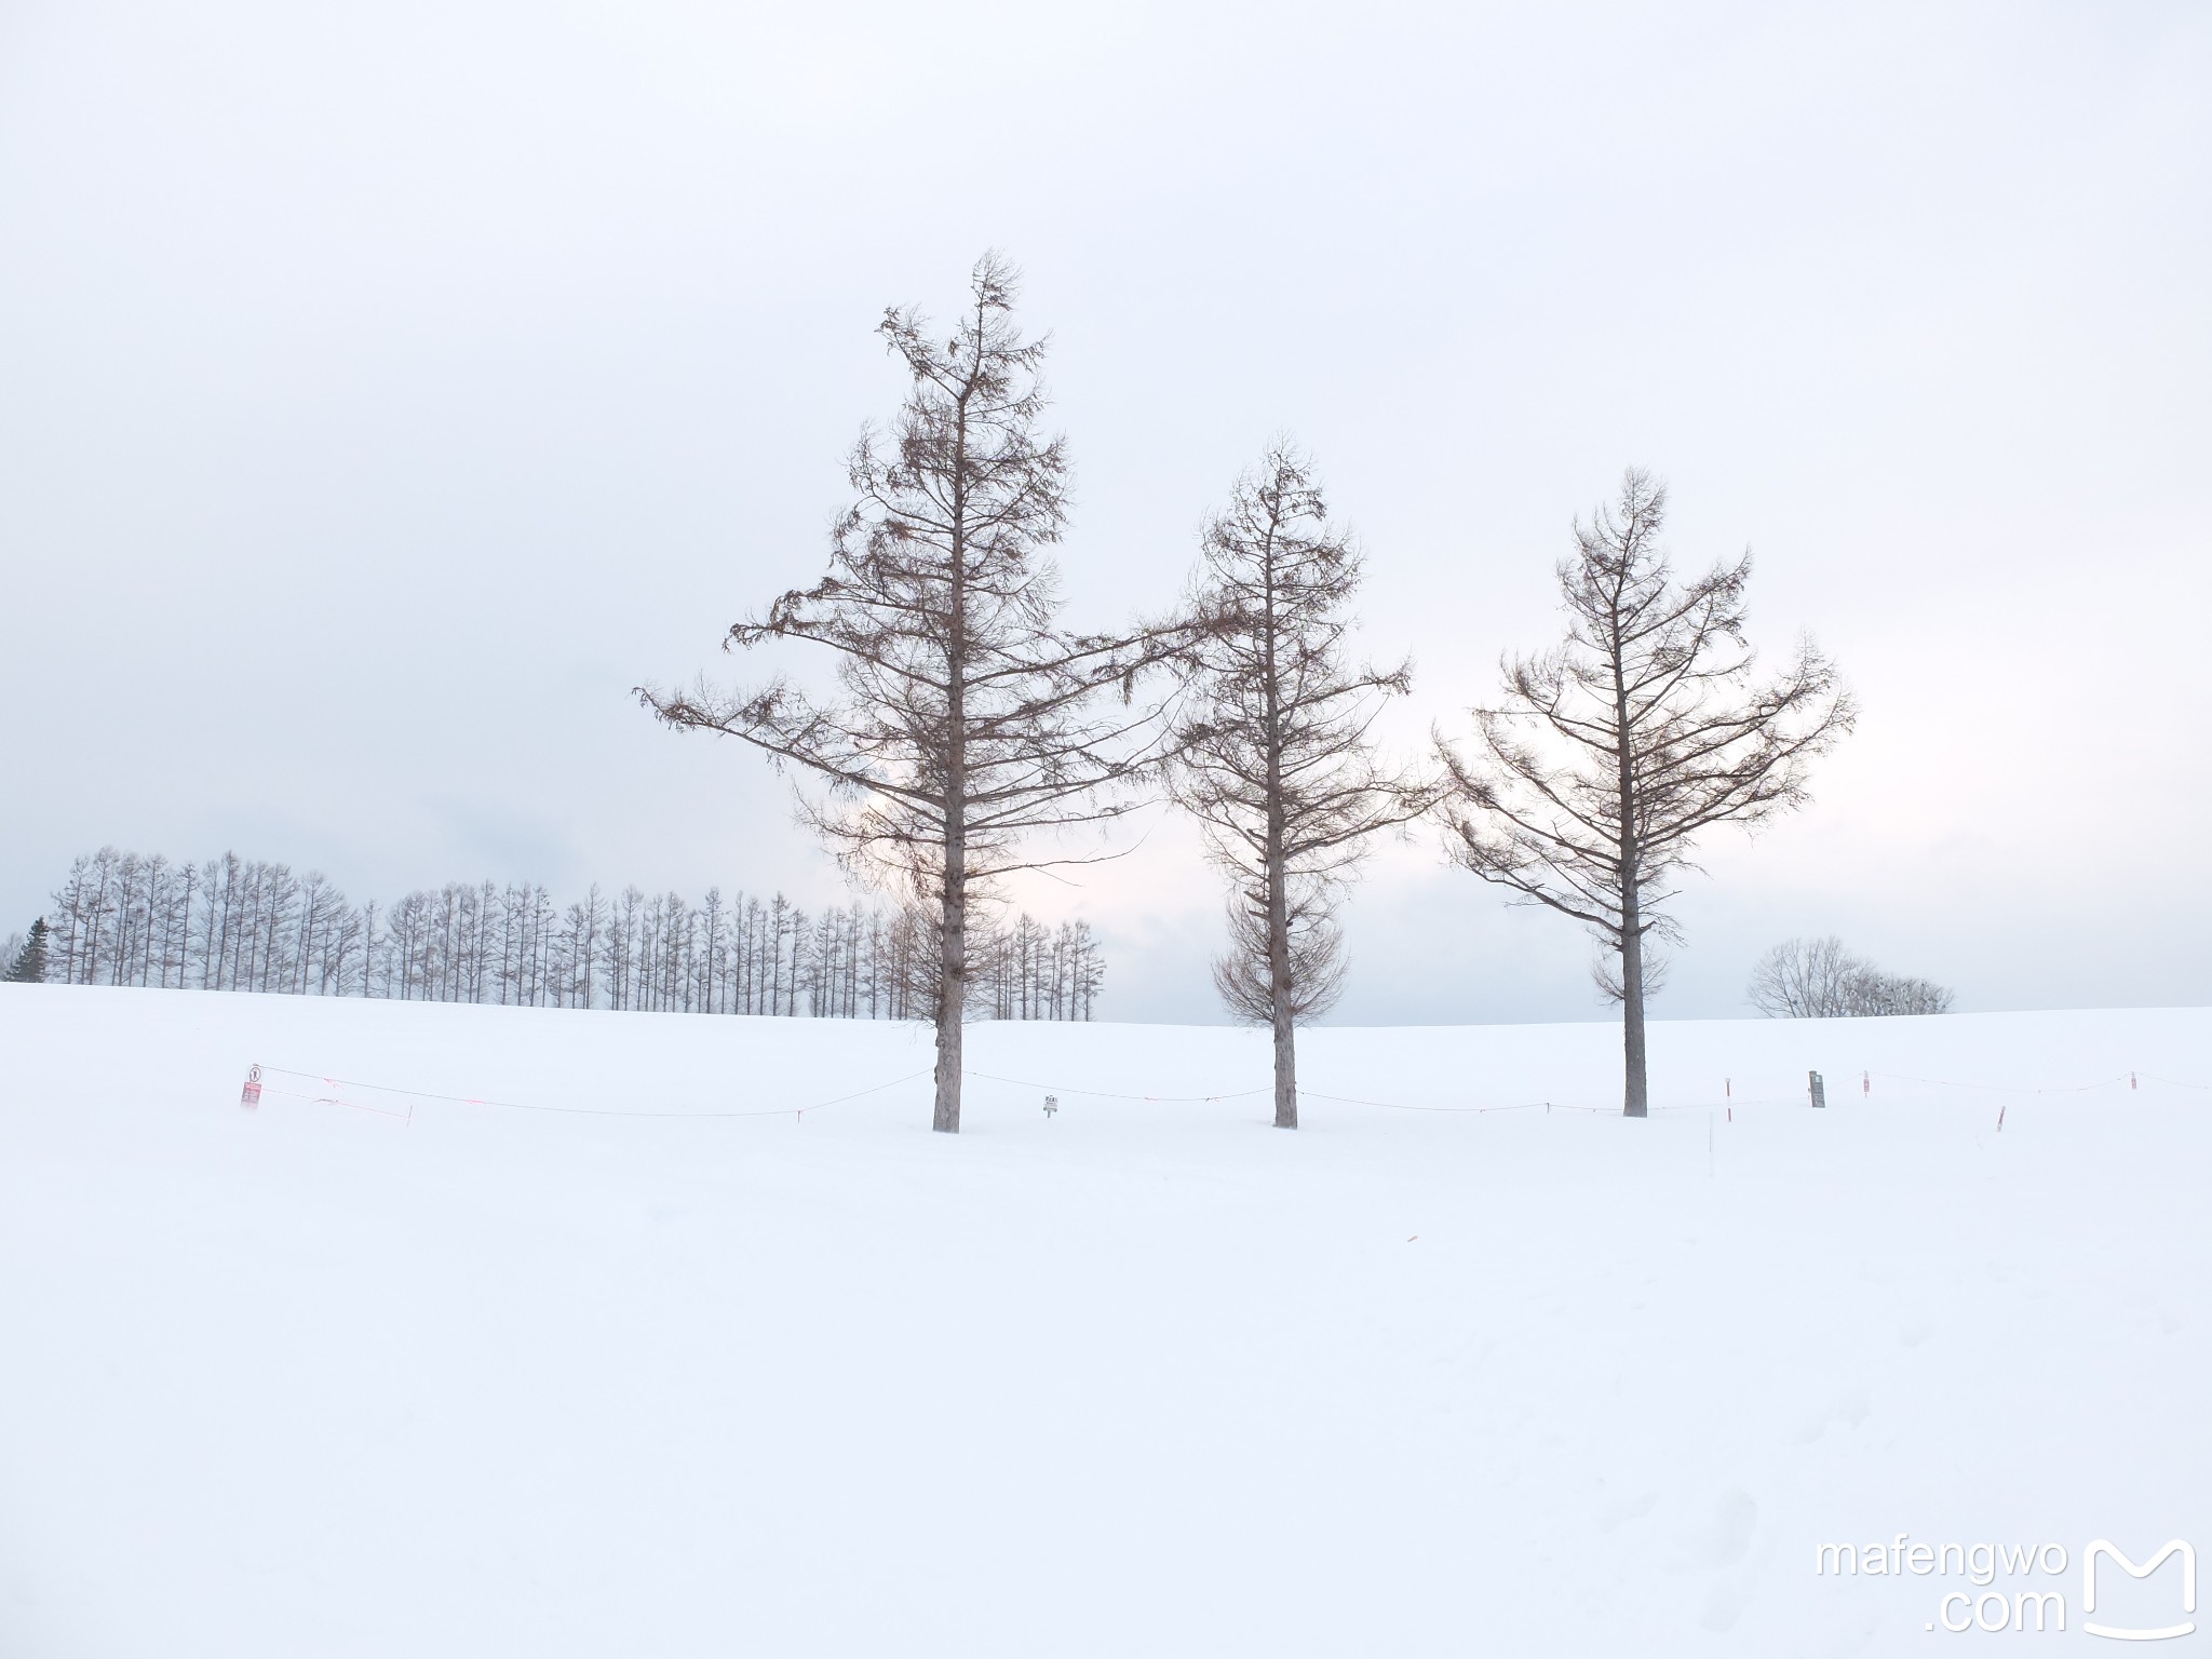
[[1659,531],[1666,487],[1630,469],[1559,562],[1566,641],[1504,661],[1504,701],[1475,710],[1482,757],[1438,737],[1453,858],[1584,922],[1599,987],[1621,1004],[1626,1113],[1648,1113],[1650,936],[1705,830],[1756,825],[1807,799],[1809,761],[1851,730],[1840,677],[1798,646],[1754,681],[1743,637],[1752,555],[1677,584]]

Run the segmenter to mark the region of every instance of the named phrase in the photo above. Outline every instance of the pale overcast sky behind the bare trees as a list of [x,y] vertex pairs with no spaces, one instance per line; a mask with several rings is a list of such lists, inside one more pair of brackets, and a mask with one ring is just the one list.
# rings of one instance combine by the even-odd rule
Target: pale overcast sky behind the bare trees
[[[1073,617],[1270,434],[1464,730],[1635,462],[1865,708],[1659,1015],[1843,933],[1964,1009],[2212,1000],[2212,11],[0,4],[0,933],[100,843],[843,898],[628,688],[812,582],[885,303],[1026,272]],[[1214,1020],[1186,827],[1035,909]],[[1433,838],[1340,1020],[1601,1013]]]

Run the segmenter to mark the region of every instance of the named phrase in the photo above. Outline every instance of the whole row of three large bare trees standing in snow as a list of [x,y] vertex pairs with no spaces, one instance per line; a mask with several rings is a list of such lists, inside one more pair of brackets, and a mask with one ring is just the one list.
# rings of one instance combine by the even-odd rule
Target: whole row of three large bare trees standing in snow
[[1482,880],[1590,929],[1624,1009],[1624,1106],[1646,1115],[1644,998],[1677,876],[1708,830],[1798,805],[1809,761],[1854,721],[1812,644],[1756,675],[1750,555],[1677,582],[1666,489],[1630,471],[1557,566],[1566,637],[1504,661],[1471,748],[1438,734],[1427,757],[1385,759],[1376,721],[1411,664],[1349,655],[1363,557],[1287,440],[1206,520],[1179,606],[1066,626],[1051,560],[1066,440],[1042,429],[1044,345],[1013,301],[1013,270],[984,254],[956,327],[885,312],[907,392],[847,458],[830,571],[723,639],[814,646],[836,690],[639,688],[668,726],[790,770],[847,867],[929,916],[933,1126],[960,1128],[975,902],[1015,872],[1110,856],[1082,832],[1161,790],[1228,880],[1217,984],[1274,1033],[1279,1126],[1298,1121],[1296,1026],[1343,987],[1336,909],[1371,838],[1418,818]]

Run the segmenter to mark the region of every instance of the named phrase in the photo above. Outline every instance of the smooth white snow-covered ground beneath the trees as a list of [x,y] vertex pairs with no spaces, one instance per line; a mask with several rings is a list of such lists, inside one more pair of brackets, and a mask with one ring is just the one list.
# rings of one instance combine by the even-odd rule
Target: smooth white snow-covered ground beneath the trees
[[[0,1652],[2185,1617],[2177,1559],[2084,1615],[2081,1557],[2212,1548],[2208,1011],[1659,1024],[1648,1124],[1573,1110],[1617,1099],[1604,1024],[1316,1031],[1296,1135],[1252,1033],[969,1044],[953,1139],[905,1026],[0,987]],[[250,1062],[305,1075],[243,1110]],[[628,1117],[710,1110],[783,1115]],[[1907,1571],[1814,1571],[1876,1540]],[[2031,1588],[2064,1635],[1940,1628]]]

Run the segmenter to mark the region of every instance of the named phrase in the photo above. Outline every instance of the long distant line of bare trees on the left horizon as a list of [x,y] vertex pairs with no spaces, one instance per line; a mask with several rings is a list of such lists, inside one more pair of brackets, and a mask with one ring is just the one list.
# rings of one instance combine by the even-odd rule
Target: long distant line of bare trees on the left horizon
[[[593,885],[560,905],[535,883],[447,883],[354,905],[321,872],[223,854],[170,863],[102,847],[9,951],[11,980],[396,1002],[500,1002],[657,1013],[927,1020],[938,971],[914,909],[783,894],[646,896]],[[1088,1020],[1106,962],[1088,922],[1018,914],[978,929],[973,1013]]]

